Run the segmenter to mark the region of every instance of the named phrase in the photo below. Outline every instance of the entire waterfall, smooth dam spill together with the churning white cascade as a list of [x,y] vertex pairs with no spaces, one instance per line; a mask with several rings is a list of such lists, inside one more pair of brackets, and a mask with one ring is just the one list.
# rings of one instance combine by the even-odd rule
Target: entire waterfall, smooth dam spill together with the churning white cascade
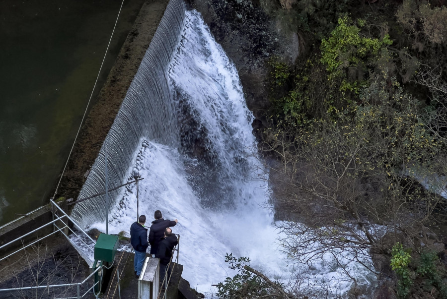
[[[150,60],[156,55],[148,49],[103,145],[113,169],[109,185],[132,180],[133,170],[140,172],[144,180],[139,187],[139,214],[148,217],[147,225],[155,210],[161,210],[164,218],[179,220],[173,228],[180,234],[179,262],[193,288],[207,292],[232,275],[224,263],[225,253],[230,252],[250,257],[252,266],[272,279],[288,279],[292,267],[278,251],[271,210],[262,207],[267,186],[258,179],[264,174],[253,154],[253,116],[237,71],[197,11],[185,12],[177,0],[169,5],[167,18],[175,14],[172,11],[180,15],[175,16],[181,20],[178,37],[170,37],[177,44],[171,56],[163,54],[166,60],[171,57],[169,63]],[[163,29],[165,17],[163,34],[158,34],[161,39],[168,32]],[[160,43],[156,39],[155,45]],[[100,156],[80,198],[103,189],[103,168]],[[128,231],[136,221],[136,195],[135,184],[112,194],[109,233]],[[85,227],[105,231],[104,209],[103,197],[95,198],[76,205],[73,216]],[[340,293],[348,290],[351,283],[343,282],[344,271],[334,263],[328,262],[330,269],[323,264],[308,271],[308,282]],[[348,267],[348,271],[355,269]]]

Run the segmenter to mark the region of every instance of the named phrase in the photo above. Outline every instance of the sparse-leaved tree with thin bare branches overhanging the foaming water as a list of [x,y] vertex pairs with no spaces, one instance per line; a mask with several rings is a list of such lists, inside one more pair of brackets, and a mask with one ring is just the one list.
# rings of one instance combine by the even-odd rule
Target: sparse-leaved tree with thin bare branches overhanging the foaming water
[[394,78],[383,72],[370,82],[358,104],[332,120],[265,132],[281,241],[296,261],[344,250],[343,259],[377,273],[366,263],[370,254],[389,257],[397,240],[419,250],[431,238],[429,224],[440,221],[444,199],[426,182],[445,155],[443,140]]

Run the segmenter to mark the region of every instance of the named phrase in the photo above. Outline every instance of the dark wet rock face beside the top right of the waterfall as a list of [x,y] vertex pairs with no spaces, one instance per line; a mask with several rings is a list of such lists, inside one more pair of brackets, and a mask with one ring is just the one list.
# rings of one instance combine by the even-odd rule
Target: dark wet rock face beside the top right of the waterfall
[[250,0],[190,0],[239,73],[248,109],[261,118],[268,109],[266,61],[278,55],[274,22]]

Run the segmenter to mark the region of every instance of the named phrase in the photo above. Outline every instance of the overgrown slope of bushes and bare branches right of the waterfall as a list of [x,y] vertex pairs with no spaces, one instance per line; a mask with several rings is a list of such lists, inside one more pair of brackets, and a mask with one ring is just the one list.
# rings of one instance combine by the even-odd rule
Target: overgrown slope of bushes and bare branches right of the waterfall
[[[258,4],[302,47],[293,63],[267,62],[262,149],[284,250],[367,250],[393,296],[447,298],[444,1]],[[283,296],[270,289],[258,297]]]

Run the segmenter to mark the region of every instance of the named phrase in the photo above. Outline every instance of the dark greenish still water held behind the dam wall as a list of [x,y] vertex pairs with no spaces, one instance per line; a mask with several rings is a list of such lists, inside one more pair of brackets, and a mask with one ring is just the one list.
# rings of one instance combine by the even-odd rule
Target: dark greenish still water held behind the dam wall
[[[124,1],[95,95],[144,1]],[[52,195],[120,5],[0,1],[0,225]]]

